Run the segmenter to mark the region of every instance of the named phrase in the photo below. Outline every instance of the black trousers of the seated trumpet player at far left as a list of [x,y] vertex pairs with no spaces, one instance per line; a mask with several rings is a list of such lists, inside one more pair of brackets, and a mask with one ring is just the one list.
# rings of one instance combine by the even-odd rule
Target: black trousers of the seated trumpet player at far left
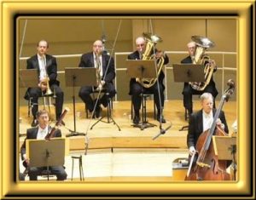
[[[55,99],[55,115],[56,119],[58,120],[61,117],[62,106],[64,101],[64,93],[61,88],[56,85],[52,84],[50,86],[52,92],[55,91],[56,99]],[[25,99],[32,98],[32,115],[36,118],[36,113],[38,111],[38,98],[42,96],[42,90],[40,88],[30,88],[27,90],[27,94]]]

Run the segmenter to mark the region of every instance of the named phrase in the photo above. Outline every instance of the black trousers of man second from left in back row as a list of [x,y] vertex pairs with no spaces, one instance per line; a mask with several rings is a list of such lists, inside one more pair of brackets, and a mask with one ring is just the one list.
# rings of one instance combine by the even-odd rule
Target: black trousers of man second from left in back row
[[[83,86],[79,90],[79,97],[84,101],[84,104],[86,104],[89,111],[93,111],[93,108],[95,106],[95,102],[90,96],[90,94],[92,94],[93,90],[95,89],[96,87],[93,86]],[[116,91],[114,89],[113,83],[105,83],[104,89],[106,90],[104,91],[102,98],[98,100],[98,104],[102,104],[104,107],[107,107],[108,97],[113,98],[113,96],[116,94]]]

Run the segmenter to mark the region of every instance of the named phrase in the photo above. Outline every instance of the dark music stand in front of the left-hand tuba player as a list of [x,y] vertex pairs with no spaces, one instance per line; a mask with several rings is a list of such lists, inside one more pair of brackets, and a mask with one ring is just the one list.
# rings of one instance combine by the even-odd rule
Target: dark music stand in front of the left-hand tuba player
[[[156,78],[157,72],[155,70],[156,60],[126,60],[127,74],[129,77],[134,78]],[[143,98],[143,93],[142,93]],[[144,106],[144,101],[142,100],[143,107],[143,122],[138,124],[133,124],[133,127],[140,128],[141,130],[147,129],[149,127],[156,126],[153,123],[148,123],[146,108]]]

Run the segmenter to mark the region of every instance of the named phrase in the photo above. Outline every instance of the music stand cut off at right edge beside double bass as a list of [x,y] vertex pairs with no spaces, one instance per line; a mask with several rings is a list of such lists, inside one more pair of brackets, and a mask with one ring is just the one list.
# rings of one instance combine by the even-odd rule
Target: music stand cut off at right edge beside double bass
[[212,143],[218,160],[232,160],[236,180],[236,137],[212,135]]

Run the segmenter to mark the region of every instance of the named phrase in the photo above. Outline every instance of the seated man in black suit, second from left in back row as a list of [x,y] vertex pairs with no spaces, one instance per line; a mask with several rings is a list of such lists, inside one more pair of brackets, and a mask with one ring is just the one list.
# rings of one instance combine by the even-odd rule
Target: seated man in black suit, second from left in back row
[[[79,67],[98,67],[99,78],[101,79],[98,87],[83,86],[79,90],[79,97],[84,101],[87,109],[92,112],[96,107],[95,115],[93,117],[100,117],[102,106],[108,106],[108,98],[113,98],[116,91],[113,86],[113,79],[115,77],[113,58],[103,52],[103,44],[101,40],[96,40],[92,46],[92,52],[83,54],[79,63]],[[97,101],[93,101],[90,94],[95,89],[106,89],[106,93],[102,95],[102,98]],[[107,95],[108,94],[108,95]],[[86,107],[85,107],[86,109]]]

